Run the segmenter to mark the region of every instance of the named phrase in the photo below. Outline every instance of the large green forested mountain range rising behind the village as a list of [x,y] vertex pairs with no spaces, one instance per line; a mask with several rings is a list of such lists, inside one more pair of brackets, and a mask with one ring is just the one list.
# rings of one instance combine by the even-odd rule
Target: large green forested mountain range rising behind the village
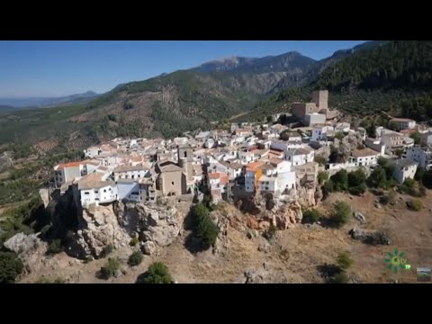
[[[172,137],[185,130],[209,128],[212,121],[228,121],[233,116],[238,116],[237,120],[261,118],[293,100],[308,100],[311,89],[318,86],[330,89],[330,103],[338,108],[363,112],[365,96],[357,90],[376,90],[392,101],[396,98],[386,92],[394,89],[362,84],[368,77],[376,80],[375,67],[375,74],[383,73],[383,77],[385,73],[413,80],[430,77],[417,73],[430,67],[416,63],[428,62],[428,44],[368,41],[318,61],[296,51],[265,58],[216,59],[188,70],[117,85],[86,103],[0,114],[0,144],[50,139],[60,147],[82,148],[115,136]],[[385,59],[377,59],[380,55]],[[392,62],[398,63],[392,67]],[[406,71],[410,76],[403,74]],[[350,75],[354,78],[347,79]],[[390,79],[390,84],[393,81]],[[344,92],[346,89],[353,92]]]

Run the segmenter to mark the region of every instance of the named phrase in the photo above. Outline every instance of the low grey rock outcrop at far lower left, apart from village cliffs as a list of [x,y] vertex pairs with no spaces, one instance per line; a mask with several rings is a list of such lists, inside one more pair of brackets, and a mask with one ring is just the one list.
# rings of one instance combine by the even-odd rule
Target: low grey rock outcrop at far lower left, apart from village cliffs
[[14,251],[23,260],[24,274],[37,271],[45,260],[48,246],[38,236],[39,233],[31,235],[18,233],[4,242],[4,247]]

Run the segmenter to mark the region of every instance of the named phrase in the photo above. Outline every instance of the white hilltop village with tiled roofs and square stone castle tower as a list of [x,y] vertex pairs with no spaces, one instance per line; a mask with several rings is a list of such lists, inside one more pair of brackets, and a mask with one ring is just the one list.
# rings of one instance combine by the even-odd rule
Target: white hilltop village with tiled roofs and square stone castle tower
[[[213,202],[237,195],[271,193],[295,196],[300,186],[313,186],[320,170],[374,167],[377,158],[395,157],[403,182],[417,166],[432,166],[428,146],[432,135],[423,131],[422,146],[414,146],[410,131],[415,121],[396,119],[400,132],[378,127],[375,139],[362,128],[338,122],[328,107],[328,91],[313,93],[313,103],[293,103],[292,115],[306,127],[289,130],[279,123],[233,123],[230,130],[186,132],[175,139],[113,139],[85,149],[85,160],[54,167],[60,193],[72,189],[83,207],[115,201],[157,202],[160,196],[211,194]],[[287,112],[290,113],[290,112]],[[365,147],[355,148],[344,163],[320,166],[315,156],[337,134],[357,134]]]

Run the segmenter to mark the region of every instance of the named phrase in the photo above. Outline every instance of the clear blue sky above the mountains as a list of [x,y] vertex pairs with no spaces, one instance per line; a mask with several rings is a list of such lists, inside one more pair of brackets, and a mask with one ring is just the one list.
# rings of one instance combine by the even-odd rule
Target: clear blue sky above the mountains
[[0,41],[0,97],[61,96],[195,67],[214,58],[297,50],[329,57],[365,40]]

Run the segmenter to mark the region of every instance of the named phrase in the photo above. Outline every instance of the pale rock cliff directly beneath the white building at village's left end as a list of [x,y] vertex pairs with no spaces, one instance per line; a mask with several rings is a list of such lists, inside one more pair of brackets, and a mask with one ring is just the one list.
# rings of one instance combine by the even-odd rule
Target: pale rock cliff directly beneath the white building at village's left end
[[98,206],[83,210],[83,229],[73,234],[67,247],[67,254],[73,257],[100,257],[103,248],[112,245],[114,248],[125,247],[130,236],[122,229],[112,206]]

